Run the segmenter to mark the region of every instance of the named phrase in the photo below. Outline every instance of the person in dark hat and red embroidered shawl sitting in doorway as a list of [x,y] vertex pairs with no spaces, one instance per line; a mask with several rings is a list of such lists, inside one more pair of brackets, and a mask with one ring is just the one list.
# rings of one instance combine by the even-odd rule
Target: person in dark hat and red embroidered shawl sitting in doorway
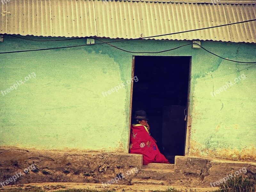
[[156,140],[150,135],[148,119],[145,111],[136,111],[134,119],[138,124],[131,125],[129,153],[143,155],[143,164],[166,163],[168,160],[160,153]]

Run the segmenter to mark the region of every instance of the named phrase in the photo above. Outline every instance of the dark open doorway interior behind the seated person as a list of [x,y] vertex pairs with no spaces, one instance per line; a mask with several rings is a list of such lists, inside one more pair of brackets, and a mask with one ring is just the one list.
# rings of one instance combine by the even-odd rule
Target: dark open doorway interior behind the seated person
[[189,56],[135,56],[132,116],[145,110],[159,150],[174,163],[184,156],[188,113]]

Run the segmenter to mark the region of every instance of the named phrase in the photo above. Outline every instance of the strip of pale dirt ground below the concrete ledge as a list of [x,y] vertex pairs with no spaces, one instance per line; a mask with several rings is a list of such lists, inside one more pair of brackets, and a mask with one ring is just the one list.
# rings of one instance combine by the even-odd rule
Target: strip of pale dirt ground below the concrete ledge
[[131,191],[143,191],[152,192],[156,190],[164,191],[168,188],[182,189],[182,191],[188,192],[210,192],[215,191],[218,188],[185,188],[179,186],[166,186],[166,185],[108,185],[103,187],[101,184],[97,183],[29,183],[29,184],[19,184],[19,185],[9,185],[0,188],[0,191],[25,191],[29,189],[41,189],[44,191],[58,191],[60,189],[94,189],[98,191],[117,191],[117,192],[131,192]]

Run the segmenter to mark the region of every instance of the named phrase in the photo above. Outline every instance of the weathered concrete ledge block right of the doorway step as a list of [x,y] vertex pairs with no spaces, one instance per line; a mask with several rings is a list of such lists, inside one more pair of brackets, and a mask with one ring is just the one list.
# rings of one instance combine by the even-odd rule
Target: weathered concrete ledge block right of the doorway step
[[186,186],[220,186],[216,181],[221,182],[227,175],[240,174],[252,178],[256,175],[256,163],[175,156],[175,174],[180,175],[180,182]]

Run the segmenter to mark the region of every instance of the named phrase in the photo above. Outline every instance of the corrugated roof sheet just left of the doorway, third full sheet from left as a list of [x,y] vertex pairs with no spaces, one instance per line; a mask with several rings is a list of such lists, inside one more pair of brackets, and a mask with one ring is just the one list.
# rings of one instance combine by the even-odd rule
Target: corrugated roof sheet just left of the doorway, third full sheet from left
[[95,1],[97,32],[100,37],[139,38],[138,2]]

